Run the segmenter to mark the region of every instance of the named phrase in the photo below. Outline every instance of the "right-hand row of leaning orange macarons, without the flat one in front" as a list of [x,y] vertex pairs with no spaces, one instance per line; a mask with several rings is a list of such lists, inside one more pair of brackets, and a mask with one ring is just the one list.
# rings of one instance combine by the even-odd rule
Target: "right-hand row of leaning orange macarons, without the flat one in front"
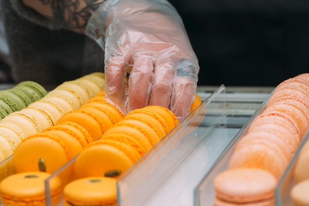
[[162,106],[129,112],[78,155],[77,178],[101,174],[118,178],[177,124],[174,113]]

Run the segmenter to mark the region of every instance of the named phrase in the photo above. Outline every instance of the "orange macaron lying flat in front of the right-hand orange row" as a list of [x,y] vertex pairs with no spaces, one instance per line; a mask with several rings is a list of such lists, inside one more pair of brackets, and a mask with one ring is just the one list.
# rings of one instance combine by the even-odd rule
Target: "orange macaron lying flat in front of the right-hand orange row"
[[117,205],[116,179],[93,176],[75,180],[64,188],[68,205]]

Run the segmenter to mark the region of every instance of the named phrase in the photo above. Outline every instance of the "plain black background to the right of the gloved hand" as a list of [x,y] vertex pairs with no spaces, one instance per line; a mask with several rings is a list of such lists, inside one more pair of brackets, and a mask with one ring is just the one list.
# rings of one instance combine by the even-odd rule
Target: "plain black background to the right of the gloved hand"
[[199,85],[276,86],[308,72],[308,0],[169,0],[198,57]]

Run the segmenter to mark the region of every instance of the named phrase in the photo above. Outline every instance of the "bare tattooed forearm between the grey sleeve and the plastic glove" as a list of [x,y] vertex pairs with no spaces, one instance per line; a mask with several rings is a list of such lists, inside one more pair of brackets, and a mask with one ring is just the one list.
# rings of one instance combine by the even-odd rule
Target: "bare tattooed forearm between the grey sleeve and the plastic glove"
[[22,0],[45,16],[62,24],[62,27],[84,34],[87,22],[104,0]]

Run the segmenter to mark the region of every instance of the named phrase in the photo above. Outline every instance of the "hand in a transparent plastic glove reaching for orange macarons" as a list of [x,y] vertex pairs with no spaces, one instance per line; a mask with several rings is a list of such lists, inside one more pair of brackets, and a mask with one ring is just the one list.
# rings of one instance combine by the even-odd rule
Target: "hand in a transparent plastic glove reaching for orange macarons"
[[124,113],[161,105],[179,120],[189,114],[198,61],[168,1],[107,0],[89,19],[86,34],[105,50],[108,101]]

